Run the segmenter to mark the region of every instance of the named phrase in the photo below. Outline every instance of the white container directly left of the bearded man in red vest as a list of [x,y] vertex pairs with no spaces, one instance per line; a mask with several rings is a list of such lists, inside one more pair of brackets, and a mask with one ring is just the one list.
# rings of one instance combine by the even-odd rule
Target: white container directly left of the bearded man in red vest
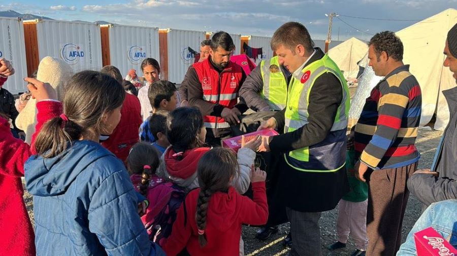
[[206,40],[206,33],[203,31],[168,30],[168,79],[171,82],[182,82],[187,69],[195,61],[189,48],[200,53],[200,42],[203,40]]

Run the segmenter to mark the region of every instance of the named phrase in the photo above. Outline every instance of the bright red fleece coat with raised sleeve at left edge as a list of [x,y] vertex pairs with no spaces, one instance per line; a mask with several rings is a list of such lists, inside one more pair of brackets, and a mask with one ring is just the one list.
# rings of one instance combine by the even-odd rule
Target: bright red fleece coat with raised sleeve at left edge
[[34,229],[22,198],[20,177],[24,177],[25,161],[35,153],[33,145],[41,127],[62,112],[62,104],[42,101],[37,108],[32,147],[14,138],[8,120],[0,117],[0,255],[35,255]]

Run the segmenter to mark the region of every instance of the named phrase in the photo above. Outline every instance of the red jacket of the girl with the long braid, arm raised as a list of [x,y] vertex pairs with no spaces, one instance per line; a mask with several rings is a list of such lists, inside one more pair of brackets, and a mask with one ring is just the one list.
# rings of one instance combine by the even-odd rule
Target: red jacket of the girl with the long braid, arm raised
[[[200,247],[195,211],[200,189],[192,190],[178,210],[171,236],[163,247],[167,255],[178,254],[184,248],[190,255],[239,255],[241,225],[264,225],[268,219],[265,182],[252,183],[254,199],[251,200],[236,192],[234,187],[228,193],[216,192],[208,203],[206,238],[208,243]],[[184,226],[186,222],[186,226]]]

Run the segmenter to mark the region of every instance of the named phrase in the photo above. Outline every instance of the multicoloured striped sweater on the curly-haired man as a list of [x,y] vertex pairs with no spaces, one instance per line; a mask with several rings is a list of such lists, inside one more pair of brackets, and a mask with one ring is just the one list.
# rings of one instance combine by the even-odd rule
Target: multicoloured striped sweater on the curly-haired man
[[419,83],[409,65],[385,76],[371,91],[355,125],[354,147],[360,160],[373,169],[416,162],[421,104]]

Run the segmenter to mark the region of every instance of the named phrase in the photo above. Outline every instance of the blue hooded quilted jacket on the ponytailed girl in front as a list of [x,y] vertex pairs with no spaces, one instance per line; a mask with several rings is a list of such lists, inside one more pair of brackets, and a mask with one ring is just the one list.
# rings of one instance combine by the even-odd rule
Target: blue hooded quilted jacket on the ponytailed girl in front
[[53,158],[25,163],[34,195],[38,255],[162,255],[137,214],[122,162],[100,144],[76,141]]

